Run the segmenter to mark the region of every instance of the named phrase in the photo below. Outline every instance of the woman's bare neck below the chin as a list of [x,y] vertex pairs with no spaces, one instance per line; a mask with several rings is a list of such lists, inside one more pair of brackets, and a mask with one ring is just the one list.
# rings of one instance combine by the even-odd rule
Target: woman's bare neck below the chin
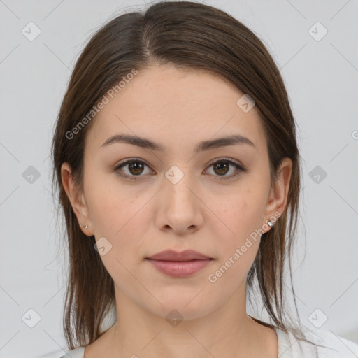
[[[245,295],[233,294],[216,310],[189,320],[154,314],[120,291],[116,302],[117,322],[102,340],[108,357],[278,357],[275,331],[246,314]],[[180,311],[194,315],[188,306]]]

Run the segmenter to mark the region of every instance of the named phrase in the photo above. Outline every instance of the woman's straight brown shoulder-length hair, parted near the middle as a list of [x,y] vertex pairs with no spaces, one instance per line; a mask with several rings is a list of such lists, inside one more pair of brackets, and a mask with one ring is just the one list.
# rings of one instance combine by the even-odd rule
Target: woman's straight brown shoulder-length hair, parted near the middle
[[93,120],[87,121],[73,138],[69,139],[68,134],[114,83],[133,69],[140,71],[151,64],[208,71],[255,100],[266,135],[271,185],[282,159],[292,159],[285,212],[271,230],[262,234],[247,284],[250,297],[257,280],[259,295],[273,324],[255,319],[257,322],[285,332],[290,327],[297,338],[306,341],[301,338],[294,294],[297,325],[291,327],[286,322],[290,313],[284,299],[284,271],[288,262],[292,285],[291,256],[299,210],[301,162],[294,117],[280,72],[259,38],[234,17],[201,3],[162,1],[145,13],[115,17],[96,31],[76,62],[57,117],[52,142],[52,189],[56,191],[54,196],[59,197],[57,214],[63,209],[66,219],[69,278],[64,334],[69,348],[93,343],[104,333],[101,324],[115,307],[115,292],[113,280],[94,250],[94,236],[88,238],[81,231],[62,185],[61,166],[68,162],[73,179],[83,190],[85,134]]

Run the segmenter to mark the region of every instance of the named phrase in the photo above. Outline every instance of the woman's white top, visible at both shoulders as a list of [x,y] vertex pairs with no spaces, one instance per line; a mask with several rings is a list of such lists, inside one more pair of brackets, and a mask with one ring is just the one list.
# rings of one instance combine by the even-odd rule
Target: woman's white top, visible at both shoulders
[[[357,358],[358,344],[348,339],[336,336],[333,332],[320,329],[305,331],[305,338],[315,343],[312,345],[305,341],[297,341],[291,331],[285,334],[281,329],[275,328],[278,336],[278,358]],[[313,332],[313,333],[311,333]],[[319,347],[324,345],[326,347]],[[74,350],[65,350],[45,355],[41,358],[85,358],[85,347]]]

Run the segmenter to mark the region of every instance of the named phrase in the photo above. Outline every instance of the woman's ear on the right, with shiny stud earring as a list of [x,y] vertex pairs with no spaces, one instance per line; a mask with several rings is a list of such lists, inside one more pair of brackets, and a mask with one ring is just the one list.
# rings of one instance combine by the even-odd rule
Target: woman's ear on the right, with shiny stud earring
[[275,222],[285,211],[291,174],[292,160],[288,157],[283,158],[280,168],[278,169],[277,180],[273,183],[273,187],[268,195],[262,225],[267,224],[269,220],[271,220],[271,222]]

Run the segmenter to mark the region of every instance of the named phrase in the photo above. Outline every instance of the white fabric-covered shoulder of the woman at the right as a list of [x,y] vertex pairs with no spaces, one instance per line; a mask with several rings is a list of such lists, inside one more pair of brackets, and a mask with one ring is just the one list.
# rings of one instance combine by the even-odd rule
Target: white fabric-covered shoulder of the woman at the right
[[292,331],[288,332],[289,343],[292,347],[292,358],[357,358],[358,344],[346,338],[337,336],[332,331],[308,329],[303,326],[303,336],[308,341],[300,341]]

